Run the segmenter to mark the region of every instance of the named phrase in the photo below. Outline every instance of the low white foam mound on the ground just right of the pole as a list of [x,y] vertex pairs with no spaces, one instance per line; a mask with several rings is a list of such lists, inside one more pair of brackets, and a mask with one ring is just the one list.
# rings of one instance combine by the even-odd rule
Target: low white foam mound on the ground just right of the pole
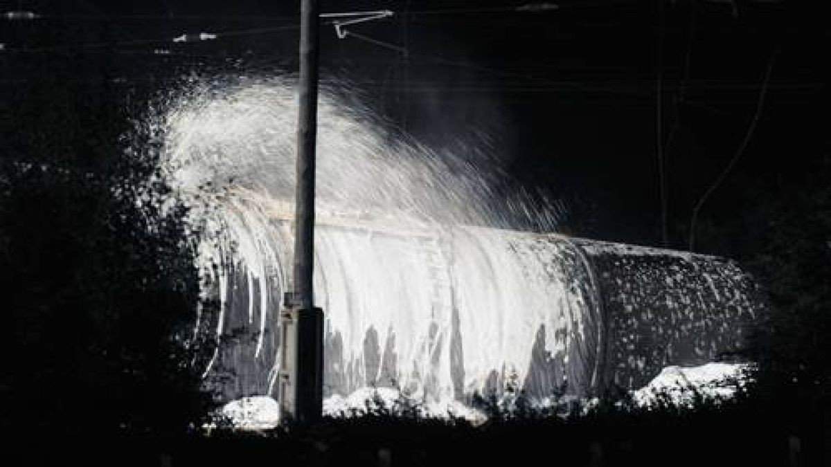
[[331,396],[323,401],[323,414],[332,417],[361,415],[416,415],[419,418],[463,418],[471,422],[482,422],[486,416],[479,410],[465,406],[460,401],[425,402],[414,401],[400,391],[389,387],[364,387],[349,396]]

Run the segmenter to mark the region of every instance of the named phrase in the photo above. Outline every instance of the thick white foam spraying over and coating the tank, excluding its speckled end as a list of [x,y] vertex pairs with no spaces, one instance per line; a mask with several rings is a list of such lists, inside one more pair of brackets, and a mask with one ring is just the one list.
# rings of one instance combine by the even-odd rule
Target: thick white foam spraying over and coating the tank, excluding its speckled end
[[[562,207],[506,189],[488,140],[465,154],[427,148],[345,104],[348,92],[325,86],[319,102],[315,300],[326,312],[327,391],[394,381],[429,403],[460,399],[527,381],[540,345],[568,379],[568,358],[587,353],[569,346],[595,331],[583,320],[592,291],[575,286],[589,283],[579,258],[568,242],[502,230],[551,231]],[[296,120],[283,77],[194,86],[166,117],[165,174],[203,232],[217,336],[229,313],[244,313],[258,327],[252,359],[289,280]]]

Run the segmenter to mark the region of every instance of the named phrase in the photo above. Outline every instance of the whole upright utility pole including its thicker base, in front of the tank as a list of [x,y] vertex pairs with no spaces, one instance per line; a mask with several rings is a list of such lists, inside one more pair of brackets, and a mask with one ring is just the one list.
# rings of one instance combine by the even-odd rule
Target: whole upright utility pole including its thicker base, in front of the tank
[[319,419],[323,405],[323,311],[312,301],[318,27],[317,0],[302,0],[293,292],[286,295],[281,313],[279,399],[289,423]]

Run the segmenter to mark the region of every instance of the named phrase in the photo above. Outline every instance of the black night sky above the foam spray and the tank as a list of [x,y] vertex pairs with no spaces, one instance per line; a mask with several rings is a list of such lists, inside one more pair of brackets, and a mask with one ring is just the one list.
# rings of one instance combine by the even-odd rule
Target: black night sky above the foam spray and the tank
[[[355,38],[338,41],[324,27],[322,68],[325,76],[354,81],[378,111],[430,143],[474,138],[478,129],[493,134],[519,179],[552,190],[580,213],[568,229],[598,238],[656,238],[659,75],[661,137],[666,144],[673,135],[666,156],[671,219],[688,218],[734,154],[774,50],[754,139],[725,185],[828,164],[829,121],[821,106],[831,41],[814,6],[821,2],[572,0],[548,12],[515,11],[524,3],[323,1],[323,12],[393,10],[396,17],[354,31],[410,53],[405,59]],[[13,71],[27,54],[61,47],[103,53],[101,43],[115,42],[120,66],[135,81],[155,72],[158,47],[174,52],[169,61],[239,59],[293,71],[298,4],[3,2],[3,11],[19,7],[44,18],[0,27],[2,62]],[[275,27],[287,29],[200,44],[162,41],[184,32]],[[711,203],[722,214],[748,209],[735,204],[729,188]]]

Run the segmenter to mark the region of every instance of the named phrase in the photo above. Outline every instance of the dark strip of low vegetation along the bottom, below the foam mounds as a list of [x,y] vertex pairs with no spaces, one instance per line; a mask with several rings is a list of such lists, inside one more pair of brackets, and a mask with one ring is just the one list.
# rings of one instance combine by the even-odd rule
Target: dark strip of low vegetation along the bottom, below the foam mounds
[[[101,443],[101,440],[106,443]],[[604,406],[573,418],[529,414],[473,426],[425,420],[387,409],[356,419],[268,432],[214,431],[174,441],[85,438],[68,450],[35,450],[27,459],[61,465],[824,465],[816,433],[794,435],[751,397],[696,408]],[[125,455],[125,453],[129,453]]]

